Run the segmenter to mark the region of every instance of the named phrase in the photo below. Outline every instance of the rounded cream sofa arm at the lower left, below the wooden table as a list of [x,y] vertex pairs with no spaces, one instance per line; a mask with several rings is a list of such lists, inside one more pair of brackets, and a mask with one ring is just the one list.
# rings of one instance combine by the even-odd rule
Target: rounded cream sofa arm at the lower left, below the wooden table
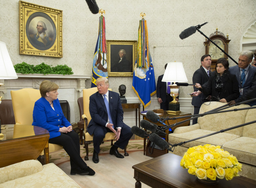
[[0,183],[35,174],[43,169],[42,164],[37,160],[25,160],[2,167],[0,168]]

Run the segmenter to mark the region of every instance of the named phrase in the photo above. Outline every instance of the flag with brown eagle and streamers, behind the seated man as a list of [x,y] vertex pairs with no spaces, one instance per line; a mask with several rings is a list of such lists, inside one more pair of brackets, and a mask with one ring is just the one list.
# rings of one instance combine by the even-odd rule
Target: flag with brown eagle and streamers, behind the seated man
[[93,57],[91,87],[96,87],[95,82],[98,77],[108,77],[106,54],[105,17],[100,16],[98,40]]

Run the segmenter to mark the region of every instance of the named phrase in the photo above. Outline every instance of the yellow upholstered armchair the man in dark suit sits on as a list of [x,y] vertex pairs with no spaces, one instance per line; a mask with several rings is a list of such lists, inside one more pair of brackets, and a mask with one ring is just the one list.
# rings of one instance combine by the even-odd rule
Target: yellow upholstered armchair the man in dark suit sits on
[[[93,135],[90,135],[87,132],[87,126],[91,120],[91,115],[89,112],[89,97],[96,93],[98,91],[97,87],[92,87],[89,89],[83,89],[83,101],[84,101],[84,114],[82,115],[82,118],[84,119],[84,148],[86,150],[86,156],[84,157],[84,160],[89,160],[88,157],[88,145],[93,142]],[[109,89],[109,91],[112,91],[112,89]],[[114,132],[107,132],[105,134],[105,138],[103,141],[111,140],[111,145],[113,145],[113,139],[114,139]],[[124,148],[124,156],[128,156],[129,154],[126,152],[126,146]]]

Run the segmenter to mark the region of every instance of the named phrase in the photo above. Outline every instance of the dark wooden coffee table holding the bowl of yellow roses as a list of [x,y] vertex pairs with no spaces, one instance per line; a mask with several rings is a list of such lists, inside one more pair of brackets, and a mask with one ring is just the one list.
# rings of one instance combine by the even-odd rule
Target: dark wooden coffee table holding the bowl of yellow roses
[[227,181],[220,179],[217,185],[205,185],[199,182],[195,176],[188,173],[180,165],[182,157],[167,153],[145,162],[133,165],[135,188],[141,188],[141,182],[154,188],[255,188],[256,181],[243,176],[234,177]]

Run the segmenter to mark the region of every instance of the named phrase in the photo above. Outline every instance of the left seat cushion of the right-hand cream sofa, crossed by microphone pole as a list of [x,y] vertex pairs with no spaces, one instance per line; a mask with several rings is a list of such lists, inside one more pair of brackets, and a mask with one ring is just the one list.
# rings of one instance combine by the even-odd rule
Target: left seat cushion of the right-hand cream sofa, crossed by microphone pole
[[[203,129],[196,129],[194,131],[190,132],[184,132],[181,134],[175,134],[171,133],[169,134],[169,143],[181,143],[184,141],[188,141],[190,139],[198,138],[200,136],[204,136],[207,134],[211,134],[215,131],[208,131]],[[238,138],[238,135],[235,134],[228,134],[225,132],[221,132],[218,134],[214,134],[212,136],[208,136],[205,138],[201,138],[195,141],[191,141],[185,144],[187,147],[193,147],[198,145],[204,145],[204,144],[213,144],[213,145],[219,145],[222,146],[224,143],[233,140],[235,138]]]

